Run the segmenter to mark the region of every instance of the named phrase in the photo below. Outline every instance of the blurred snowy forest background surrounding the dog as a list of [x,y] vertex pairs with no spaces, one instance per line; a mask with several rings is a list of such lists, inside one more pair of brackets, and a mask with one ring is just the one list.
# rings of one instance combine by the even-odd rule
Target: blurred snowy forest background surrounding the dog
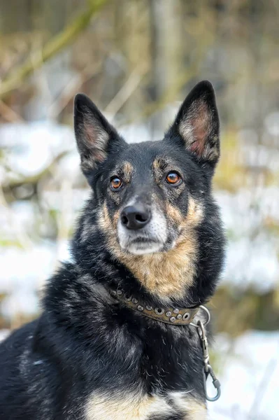
[[38,314],[43,282],[69,258],[88,195],[74,95],[88,94],[128,141],[160,139],[206,78],[229,239],[210,304],[222,379],[210,413],[278,419],[278,22],[276,0],[0,0],[0,330]]

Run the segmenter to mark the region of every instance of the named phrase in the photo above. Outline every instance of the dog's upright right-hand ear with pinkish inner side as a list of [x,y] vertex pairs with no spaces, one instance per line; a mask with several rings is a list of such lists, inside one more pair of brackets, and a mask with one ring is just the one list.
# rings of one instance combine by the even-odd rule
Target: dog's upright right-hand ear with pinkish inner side
[[186,97],[170,132],[183,141],[198,162],[215,167],[220,156],[219,131],[213,85],[203,80]]

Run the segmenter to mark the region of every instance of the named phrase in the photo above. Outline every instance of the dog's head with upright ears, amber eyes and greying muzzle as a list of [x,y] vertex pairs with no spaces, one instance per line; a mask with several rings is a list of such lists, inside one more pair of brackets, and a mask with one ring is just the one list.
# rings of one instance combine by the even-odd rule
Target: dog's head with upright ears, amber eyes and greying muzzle
[[212,85],[194,87],[162,141],[127,144],[84,94],[76,96],[74,113],[81,168],[94,191],[92,211],[111,253],[129,266],[131,257],[173,251],[173,258],[194,266],[195,230],[208,223],[220,155]]

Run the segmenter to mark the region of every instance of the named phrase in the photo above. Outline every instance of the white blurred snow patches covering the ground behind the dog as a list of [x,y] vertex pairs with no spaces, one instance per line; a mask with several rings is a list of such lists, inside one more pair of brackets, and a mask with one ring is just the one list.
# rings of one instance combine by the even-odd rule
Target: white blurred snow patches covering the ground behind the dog
[[[127,127],[125,134],[128,139],[148,140],[142,127]],[[0,170],[3,182],[6,177],[18,179],[20,174],[34,176],[48,167],[55,156],[68,153],[56,169],[53,183],[65,187],[66,180],[69,189],[68,184],[61,190],[52,186],[43,189],[41,202],[42,211],[64,208],[63,222],[71,227],[87,196],[76,181],[80,172],[72,129],[50,123],[2,125],[0,147],[7,151]],[[262,156],[266,159],[266,151]],[[253,160],[253,153],[250,158]],[[273,165],[276,171],[277,164],[278,157]],[[13,172],[5,169],[6,165]],[[269,218],[278,221],[279,188],[241,189],[234,194],[217,191],[215,196],[229,236],[224,281],[234,283],[236,288],[251,285],[259,291],[275,288],[279,276],[278,236],[262,226]],[[40,226],[34,237],[36,218]],[[2,311],[8,317],[16,312],[36,314],[36,290],[59,260],[69,259],[68,242],[63,237],[57,243],[42,239],[44,229],[43,214],[38,217],[34,203],[18,200],[11,207],[5,203],[1,206],[1,237],[24,244],[0,248],[0,293],[8,293]],[[247,332],[235,342],[219,336],[215,349],[221,360],[222,397],[218,402],[208,403],[212,420],[278,419],[279,332]]]

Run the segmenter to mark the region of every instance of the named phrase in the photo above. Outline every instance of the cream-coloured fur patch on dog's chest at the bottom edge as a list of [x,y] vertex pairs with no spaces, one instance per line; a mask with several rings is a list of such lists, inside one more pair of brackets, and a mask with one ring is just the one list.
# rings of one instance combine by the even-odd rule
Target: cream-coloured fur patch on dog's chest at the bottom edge
[[109,395],[94,393],[87,402],[86,420],[206,420],[206,406],[187,393]]

